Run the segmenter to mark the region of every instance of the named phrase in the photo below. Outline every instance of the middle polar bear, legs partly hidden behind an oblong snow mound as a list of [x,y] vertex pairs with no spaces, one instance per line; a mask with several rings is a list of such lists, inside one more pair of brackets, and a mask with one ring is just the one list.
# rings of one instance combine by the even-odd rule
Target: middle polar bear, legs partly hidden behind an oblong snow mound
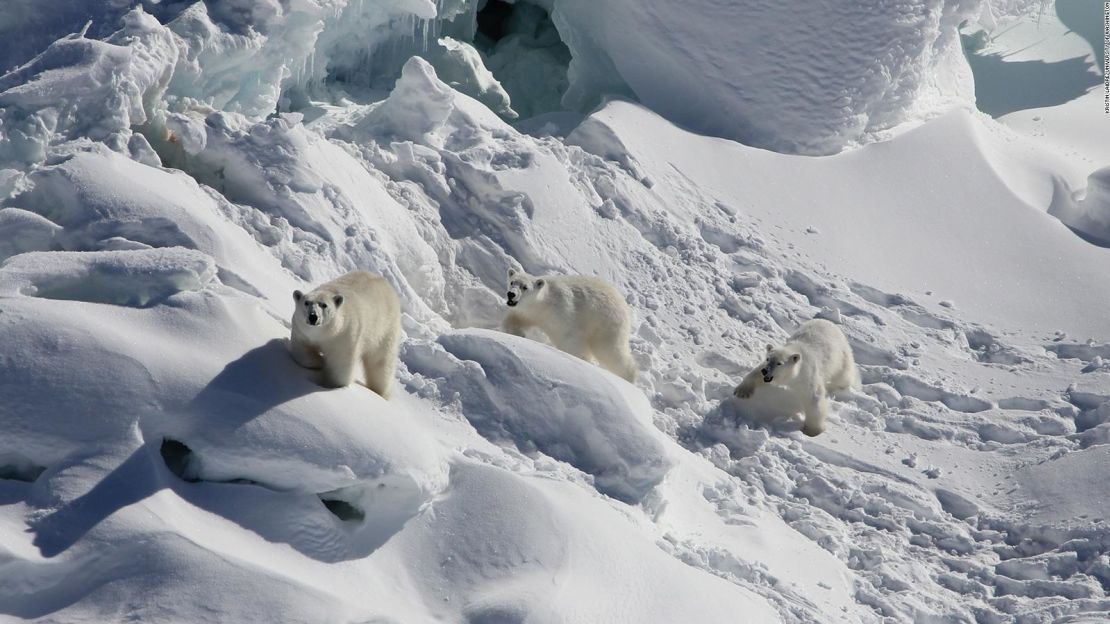
[[523,336],[537,328],[561,351],[587,362],[593,356],[602,368],[636,381],[628,351],[632,315],[613,285],[587,275],[533,278],[509,269],[507,296],[505,332]]

